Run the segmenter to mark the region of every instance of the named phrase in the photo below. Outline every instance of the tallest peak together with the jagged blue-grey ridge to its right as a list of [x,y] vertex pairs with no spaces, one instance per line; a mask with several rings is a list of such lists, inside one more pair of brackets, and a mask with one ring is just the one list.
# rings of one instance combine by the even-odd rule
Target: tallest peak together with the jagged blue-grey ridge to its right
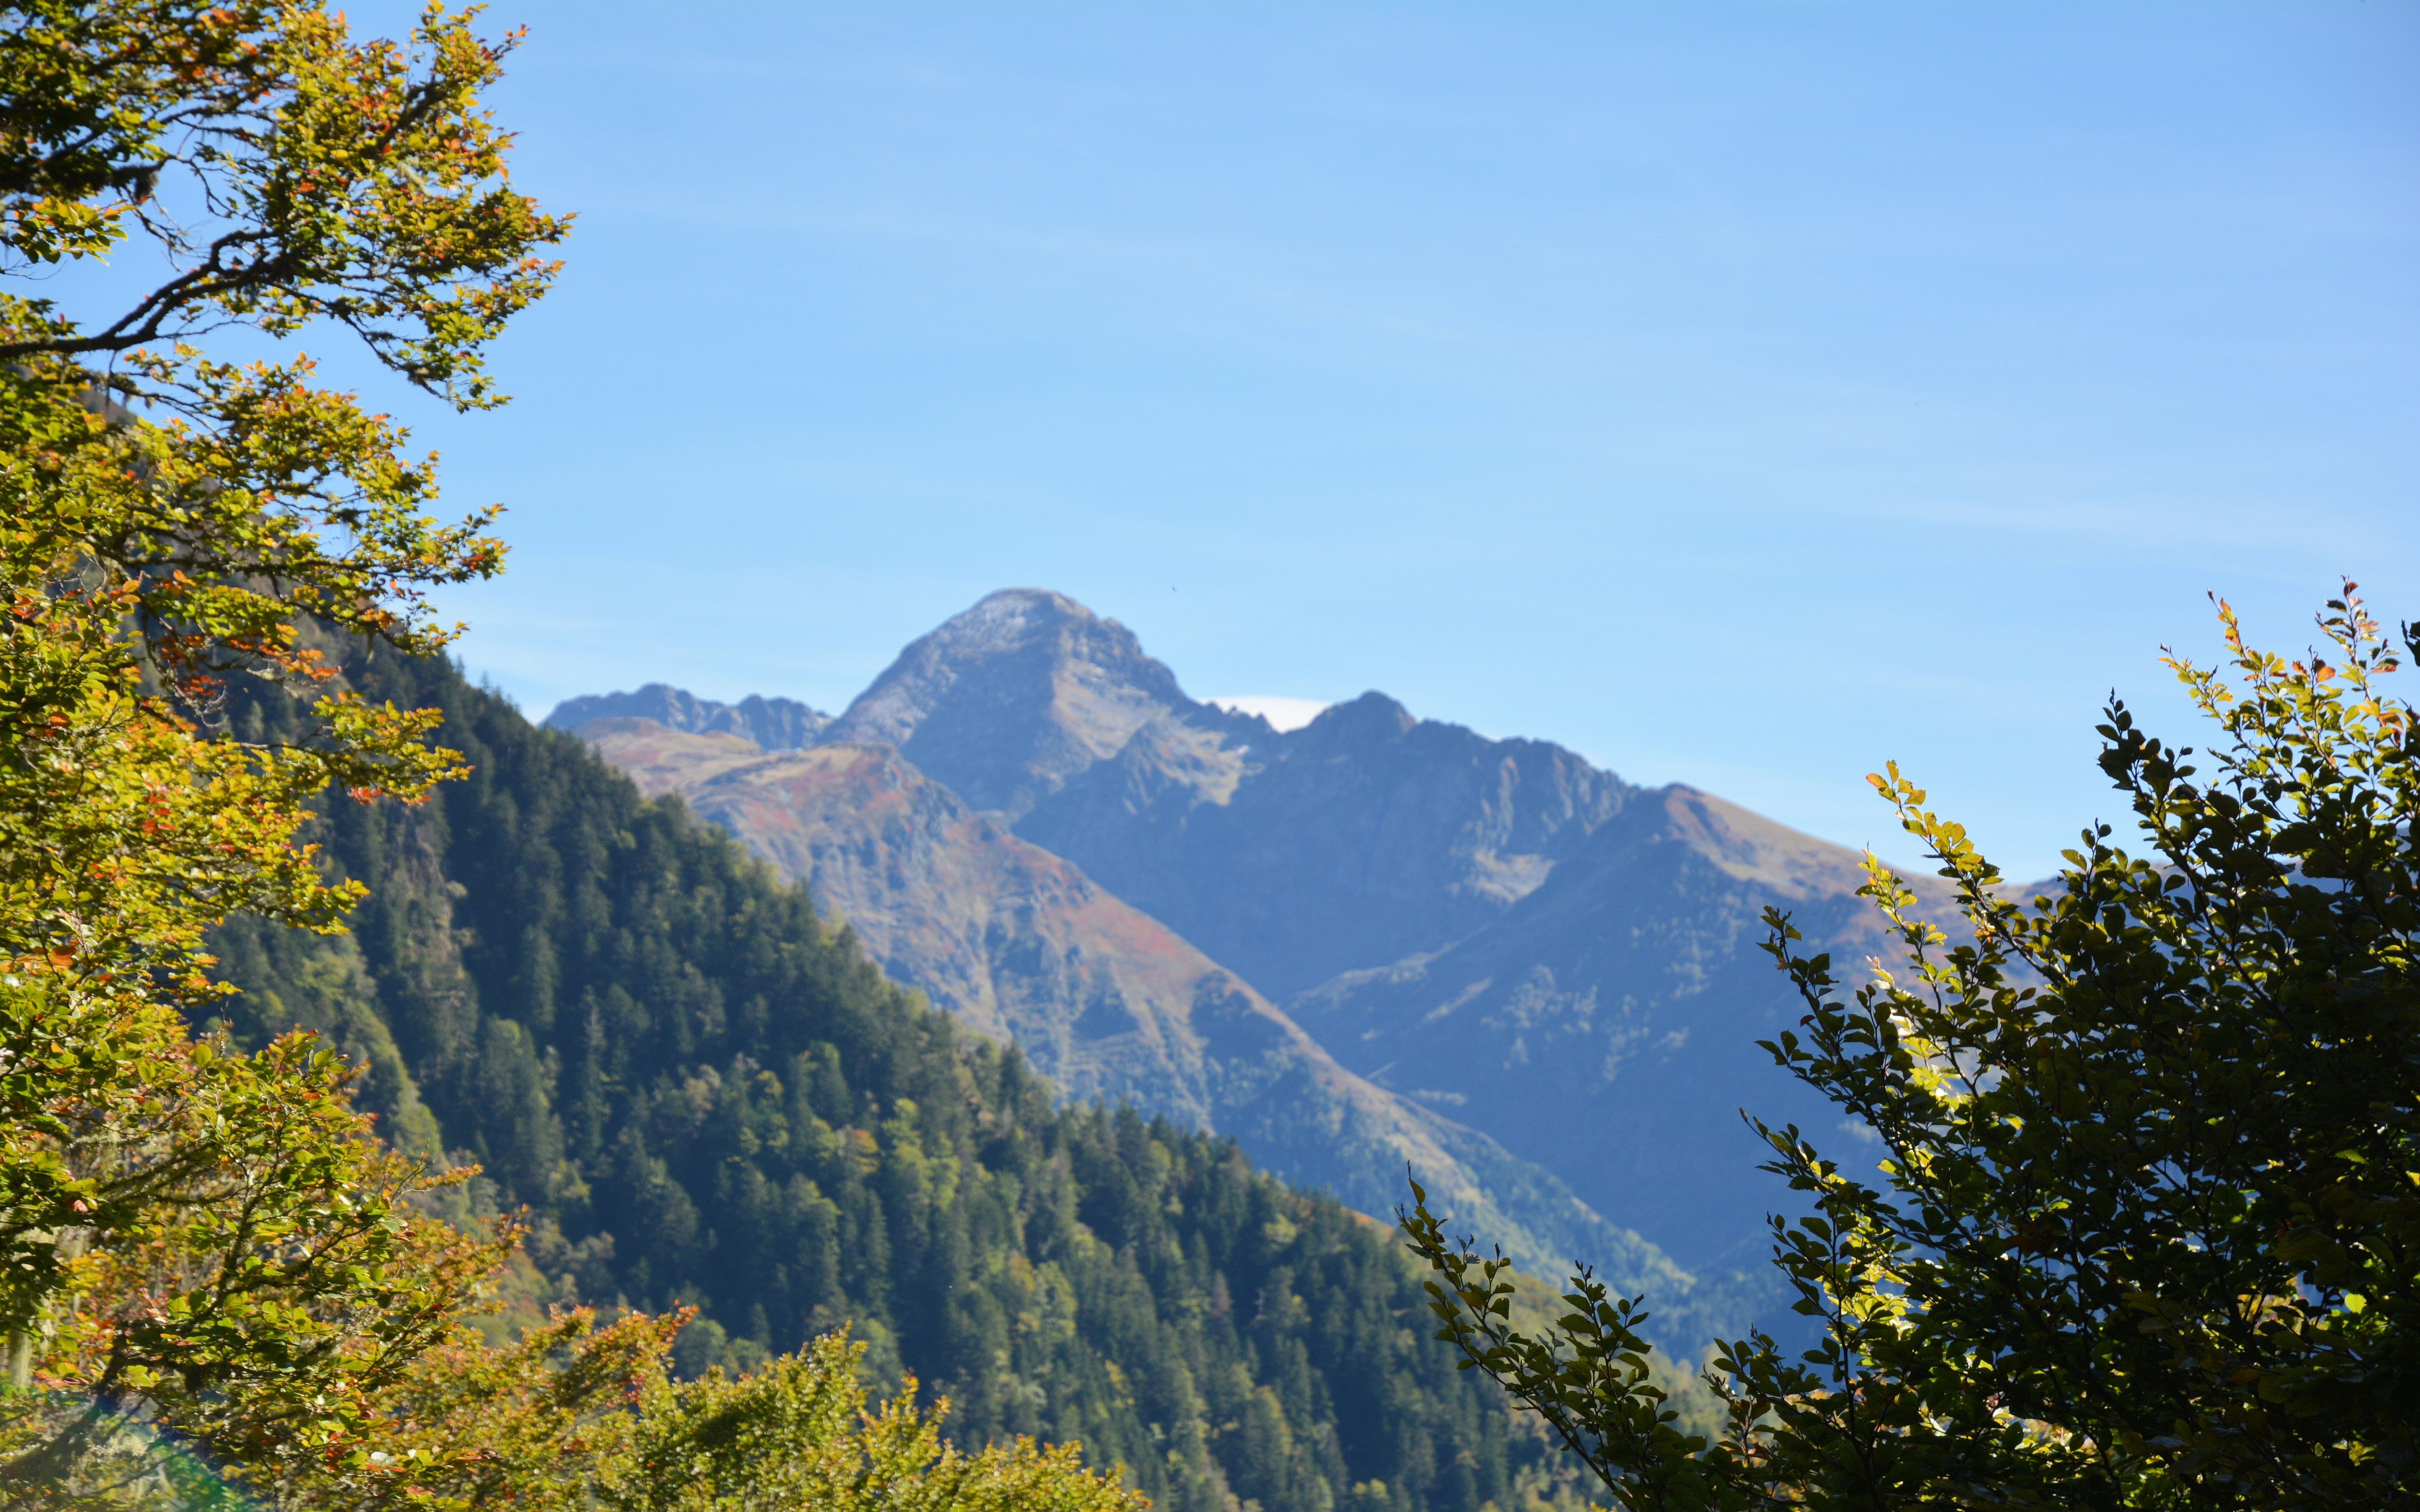
[[823,738],[895,745],[1278,997],[1479,929],[1631,791],[1384,694],[1278,733],[1033,588],[910,644]]

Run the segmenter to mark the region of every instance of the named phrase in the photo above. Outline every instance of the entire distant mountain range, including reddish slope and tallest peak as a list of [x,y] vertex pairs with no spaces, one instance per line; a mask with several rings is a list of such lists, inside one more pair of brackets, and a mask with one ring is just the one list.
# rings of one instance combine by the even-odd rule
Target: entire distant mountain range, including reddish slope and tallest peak
[[1786,1193],[1742,1106],[1854,1149],[1754,1038],[1796,1016],[1767,902],[1815,948],[1880,951],[1859,856],[1696,789],[1375,692],[1280,733],[1043,590],[922,636],[837,719],[649,685],[547,723],[808,881],[1067,1093],[1229,1132],[1367,1212],[1408,1161],[1525,1268],[1595,1260],[1675,1326],[1762,1311]]

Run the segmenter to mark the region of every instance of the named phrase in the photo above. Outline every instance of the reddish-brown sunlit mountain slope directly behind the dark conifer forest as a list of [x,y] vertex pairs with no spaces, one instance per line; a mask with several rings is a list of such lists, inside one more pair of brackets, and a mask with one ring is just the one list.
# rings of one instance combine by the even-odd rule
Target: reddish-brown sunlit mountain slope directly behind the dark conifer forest
[[1372,1214],[1404,1200],[1408,1168],[1534,1272],[1588,1258],[1648,1292],[1675,1340],[1754,1311],[1491,1137],[1346,1072],[1249,982],[888,745],[760,752],[646,719],[576,733],[644,793],[680,793],[784,876],[811,881],[818,907],[888,977],[1021,1045],[1067,1096],[1229,1135],[1263,1168]]

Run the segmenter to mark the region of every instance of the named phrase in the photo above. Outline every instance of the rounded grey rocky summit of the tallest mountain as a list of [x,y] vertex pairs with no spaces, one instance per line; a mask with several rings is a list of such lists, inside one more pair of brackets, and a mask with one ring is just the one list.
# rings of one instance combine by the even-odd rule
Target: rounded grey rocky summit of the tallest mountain
[[1116,619],[1048,588],[1002,588],[900,651],[823,738],[893,745],[970,806],[1014,818],[1193,706]]

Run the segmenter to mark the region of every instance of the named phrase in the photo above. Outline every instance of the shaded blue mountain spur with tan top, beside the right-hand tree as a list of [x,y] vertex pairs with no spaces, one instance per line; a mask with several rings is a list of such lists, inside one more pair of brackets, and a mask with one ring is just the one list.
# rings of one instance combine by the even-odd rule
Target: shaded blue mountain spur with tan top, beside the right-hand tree
[[[1762,951],[1793,914],[1844,977],[1897,951],[1863,859],[1689,786],[1634,798],[1486,929],[1287,1004],[1338,1060],[1544,1161],[1692,1265],[1759,1243],[1788,1193],[1738,1110],[1863,1154],[1757,1040],[1805,1011]],[[1907,878],[1936,919],[1948,885]],[[1585,1152],[1573,1159],[1573,1152]]]

